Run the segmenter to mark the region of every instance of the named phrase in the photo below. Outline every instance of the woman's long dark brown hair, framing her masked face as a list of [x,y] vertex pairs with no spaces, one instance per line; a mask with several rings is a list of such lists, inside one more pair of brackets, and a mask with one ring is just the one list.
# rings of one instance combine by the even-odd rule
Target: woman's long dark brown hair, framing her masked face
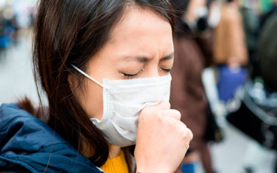
[[[107,161],[107,141],[73,97],[67,78],[73,74],[81,86],[83,77],[71,64],[86,71],[87,62],[109,40],[111,28],[127,6],[158,12],[168,19],[174,33],[175,16],[168,0],[41,0],[34,28],[33,62],[35,80],[48,98],[48,113],[34,113],[27,101],[20,102],[23,109],[47,119],[48,125],[97,166]],[[93,149],[92,154],[86,153],[87,147]]]

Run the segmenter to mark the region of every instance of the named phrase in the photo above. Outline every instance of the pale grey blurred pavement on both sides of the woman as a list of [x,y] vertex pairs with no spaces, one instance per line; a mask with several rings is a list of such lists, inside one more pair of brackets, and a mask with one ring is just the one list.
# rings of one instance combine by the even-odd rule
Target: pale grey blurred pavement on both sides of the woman
[[[30,39],[24,38],[0,57],[0,104],[15,102],[28,95],[38,102],[31,65]],[[237,131],[224,120],[223,143],[212,145],[213,163],[218,173],[243,173],[243,165],[253,165],[255,173],[274,173],[275,152],[261,149],[252,140]],[[197,167],[201,173],[202,167]]]

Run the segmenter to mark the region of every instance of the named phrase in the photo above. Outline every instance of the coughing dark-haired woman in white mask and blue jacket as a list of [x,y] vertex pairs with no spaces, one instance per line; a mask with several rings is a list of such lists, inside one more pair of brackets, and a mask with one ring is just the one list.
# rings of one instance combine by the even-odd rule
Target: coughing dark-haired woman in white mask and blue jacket
[[174,172],[192,134],[168,102],[172,14],[166,0],[40,1],[33,60],[48,107],[3,104],[0,167],[132,172],[136,145],[136,172]]

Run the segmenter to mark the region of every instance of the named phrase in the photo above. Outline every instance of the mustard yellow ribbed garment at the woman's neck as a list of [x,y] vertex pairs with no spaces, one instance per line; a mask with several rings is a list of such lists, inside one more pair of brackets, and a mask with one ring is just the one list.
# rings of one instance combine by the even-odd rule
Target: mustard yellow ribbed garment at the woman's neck
[[115,158],[108,158],[106,163],[100,167],[106,173],[128,173],[128,166],[123,151]]

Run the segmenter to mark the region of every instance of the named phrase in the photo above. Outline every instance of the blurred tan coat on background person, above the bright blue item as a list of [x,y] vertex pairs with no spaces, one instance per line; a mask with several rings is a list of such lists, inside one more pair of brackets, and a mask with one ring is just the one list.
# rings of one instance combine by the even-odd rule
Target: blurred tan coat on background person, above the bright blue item
[[215,64],[242,66],[248,63],[247,46],[238,0],[227,0],[215,28],[213,57]]

